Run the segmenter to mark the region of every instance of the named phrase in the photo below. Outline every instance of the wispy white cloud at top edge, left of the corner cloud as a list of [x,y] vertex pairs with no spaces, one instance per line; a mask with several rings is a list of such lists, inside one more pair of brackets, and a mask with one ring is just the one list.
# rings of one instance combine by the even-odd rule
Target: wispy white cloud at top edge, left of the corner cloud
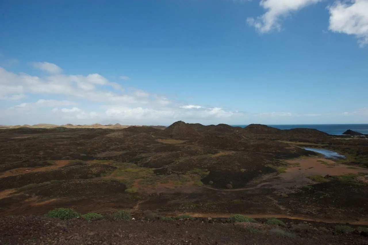
[[281,17],[285,17],[292,12],[301,10],[308,5],[318,3],[323,0],[261,0],[259,3],[266,13],[256,19],[250,17],[247,23],[254,26],[260,33],[269,32],[272,30],[281,30]]

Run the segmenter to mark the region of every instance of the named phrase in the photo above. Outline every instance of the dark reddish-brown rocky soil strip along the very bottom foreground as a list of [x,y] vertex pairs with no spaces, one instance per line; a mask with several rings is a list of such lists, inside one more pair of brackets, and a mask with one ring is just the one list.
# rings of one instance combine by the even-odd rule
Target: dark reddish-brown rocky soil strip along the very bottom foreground
[[319,227],[323,224],[287,224],[288,228],[281,229],[259,223],[206,220],[88,222],[37,216],[2,217],[0,244],[368,244],[368,239],[358,232],[340,233],[333,231],[330,224],[323,229]]

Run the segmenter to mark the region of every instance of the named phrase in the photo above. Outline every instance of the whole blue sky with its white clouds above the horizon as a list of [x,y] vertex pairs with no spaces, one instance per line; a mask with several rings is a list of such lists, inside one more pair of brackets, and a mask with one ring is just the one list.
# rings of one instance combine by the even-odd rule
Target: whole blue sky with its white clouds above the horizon
[[368,123],[368,0],[0,0],[0,124]]

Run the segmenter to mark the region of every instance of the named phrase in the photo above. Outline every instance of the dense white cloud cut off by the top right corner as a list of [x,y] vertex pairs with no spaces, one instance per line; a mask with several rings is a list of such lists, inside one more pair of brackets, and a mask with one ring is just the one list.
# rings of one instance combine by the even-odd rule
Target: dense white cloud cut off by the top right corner
[[368,0],[336,1],[328,10],[330,31],[354,35],[361,47],[368,44]]

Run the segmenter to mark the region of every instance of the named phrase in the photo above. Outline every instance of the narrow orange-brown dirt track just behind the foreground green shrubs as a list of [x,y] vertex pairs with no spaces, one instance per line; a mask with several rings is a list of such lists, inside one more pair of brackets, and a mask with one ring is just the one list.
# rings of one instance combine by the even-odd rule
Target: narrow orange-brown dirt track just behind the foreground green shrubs
[[[190,216],[196,218],[229,218],[233,214],[228,213],[185,213]],[[252,218],[252,219],[268,219],[268,218],[276,218],[276,219],[292,219],[292,220],[304,220],[304,221],[315,221],[315,222],[324,222],[324,223],[348,223],[352,225],[368,225],[368,219],[362,220],[333,220],[333,219],[316,219],[308,216],[290,216],[286,214],[244,214],[244,216]]]

